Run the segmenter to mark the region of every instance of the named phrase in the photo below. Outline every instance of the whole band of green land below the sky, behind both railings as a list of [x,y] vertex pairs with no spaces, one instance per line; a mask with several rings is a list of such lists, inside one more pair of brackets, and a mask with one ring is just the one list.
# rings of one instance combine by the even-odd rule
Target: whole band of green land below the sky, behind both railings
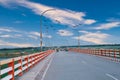
[[[118,49],[120,50],[120,44],[105,44],[105,45],[80,45],[80,48],[92,48],[92,49]],[[54,47],[43,47],[42,51],[54,48],[78,48],[78,46],[54,46]],[[13,48],[13,49],[0,49],[0,58],[12,58],[22,55],[33,54],[40,52],[39,47],[28,47],[28,48]]]

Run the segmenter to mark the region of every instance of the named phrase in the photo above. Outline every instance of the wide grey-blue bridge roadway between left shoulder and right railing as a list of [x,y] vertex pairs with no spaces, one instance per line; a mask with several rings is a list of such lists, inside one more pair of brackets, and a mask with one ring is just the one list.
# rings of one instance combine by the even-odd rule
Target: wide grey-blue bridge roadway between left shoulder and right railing
[[89,54],[58,52],[39,80],[120,80],[120,63]]

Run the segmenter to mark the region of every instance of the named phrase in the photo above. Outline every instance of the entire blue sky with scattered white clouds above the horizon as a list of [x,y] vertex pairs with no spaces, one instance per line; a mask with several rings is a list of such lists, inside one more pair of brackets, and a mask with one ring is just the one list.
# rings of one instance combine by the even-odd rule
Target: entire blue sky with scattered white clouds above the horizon
[[[0,0],[0,48],[120,44],[120,0]],[[41,27],[41,28],[40,28]]]

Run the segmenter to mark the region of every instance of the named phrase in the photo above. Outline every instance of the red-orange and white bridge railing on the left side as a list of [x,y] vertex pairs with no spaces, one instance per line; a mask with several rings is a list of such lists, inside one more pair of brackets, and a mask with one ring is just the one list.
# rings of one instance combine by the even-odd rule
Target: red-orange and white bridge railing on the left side
[[35,64],[53,52],[53,50],[48,50],[0,61],[0,80],[15,80],[15,77],[22,76],[24,72],[28,71]]

